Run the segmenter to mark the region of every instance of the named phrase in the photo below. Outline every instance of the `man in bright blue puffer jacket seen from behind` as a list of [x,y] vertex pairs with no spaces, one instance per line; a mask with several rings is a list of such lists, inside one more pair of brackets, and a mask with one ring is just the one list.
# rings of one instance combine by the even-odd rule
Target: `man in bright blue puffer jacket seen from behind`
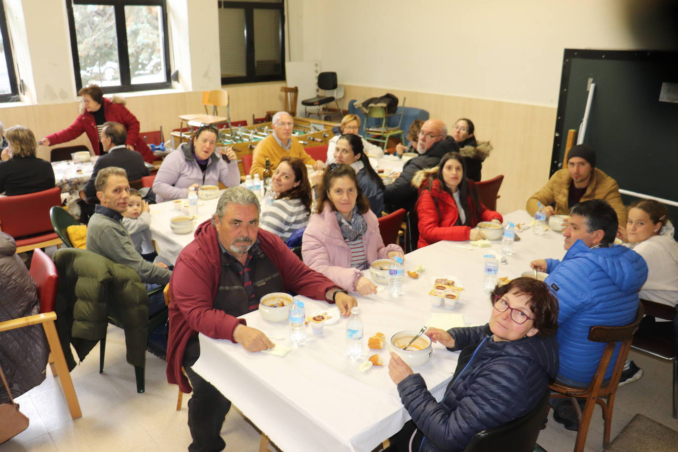
[[[627,325],[638,310],[638,290],[647,279],[647,264],[635,251],[614,245],[617,226],[617,214],[605,201],[579,203],[572,207],[570,223],[563,230],[567,249],[563,260],[532,262],[533,268],[549,273],[545,282],[558,297],[557,379],[570,386],[589,386],[603,354],[605,344],[589,341],[589,329],[595,325]],[[612,375],[616,356],[617,352],[605,378]],[[569,408],[570,403],[562,405]],[[571,417],[567,411],[567,417]],[[556,413],[565,417],[563,411]],[[576,430],[576,419],[563,423],[569,430]]]

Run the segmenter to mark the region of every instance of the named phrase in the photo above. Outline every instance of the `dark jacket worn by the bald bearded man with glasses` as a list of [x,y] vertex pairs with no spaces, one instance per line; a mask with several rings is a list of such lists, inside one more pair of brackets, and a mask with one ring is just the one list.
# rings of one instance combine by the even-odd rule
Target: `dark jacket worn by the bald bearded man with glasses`
[[438,166],[443,155],[453,151],[459,152],[459,146],[452,137],[448,136],[445,140],[435,143],[431,149],[426,151],[426,154],[407,161],[400,176],[393,181],[393,184],[386,186],[384,204],[391,206],[393,210],[401,207],[407,211],[413,210],[418,194],[418,190],[412,186],[412,178],[416,172]]

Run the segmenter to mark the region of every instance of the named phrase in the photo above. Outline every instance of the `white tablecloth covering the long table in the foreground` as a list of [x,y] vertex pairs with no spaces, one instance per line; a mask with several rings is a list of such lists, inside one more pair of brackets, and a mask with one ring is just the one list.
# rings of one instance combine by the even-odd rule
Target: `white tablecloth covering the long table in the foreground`
[[[529,223],[525,211],[506,215],[507,220]],[[561,258],[563,237],[547,231],[544,237],[532,230],[519,235],[515,255],[499,268],[499,276],[520,276],[536,258]],[[490,248],[465,248],[462,242],[439,242],[407,254],[405,270],[423,264],[419,279],[403,279],[403,295],[358,297],[365,324],[365,337],[380,331],[390,339],[404,329],[418,330],[434,313],[459,313],[466,325],[483,325],[490,319],[489,296],[481,290],[483,255],[500,256],[500,241]],[[433,279],[455,276],[464,291],[454,310],[433,308],[428,297]],[[304,298],[304,297],[302,297]],[[306,312],[327,308],[325,302],[307,300]],[[287,324],[264,321],[259,312],[243,316],[247,325],[261,329],[273,342],[290,346]],[[345,356],[346,320],[325,326],[323,335],[307,329],[306,344],[294,348],[285,358],[250,353],[239,344],[200,335],[201,356],[194,370],[212,382],[254,424],[283,451],[371,451],[395,434],[409,419],[395,384],[388,377],[388,350],[379,352],[384,367],[367,373],[359,362]],[[375,350],[367,349],[365,359]],[[421,373],[429,390],[440,399],[456,367],[458,353],[434,344],[431,361],[414,369]]]

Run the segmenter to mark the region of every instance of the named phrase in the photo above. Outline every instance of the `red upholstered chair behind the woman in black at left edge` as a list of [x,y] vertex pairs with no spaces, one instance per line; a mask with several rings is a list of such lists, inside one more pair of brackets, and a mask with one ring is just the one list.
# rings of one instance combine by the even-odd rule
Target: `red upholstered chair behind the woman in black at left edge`
[[63,243],[49,220],[49,209],[61,205],[60,193],[54,187],[0,198],[0,230],[14,237],[17,253]]

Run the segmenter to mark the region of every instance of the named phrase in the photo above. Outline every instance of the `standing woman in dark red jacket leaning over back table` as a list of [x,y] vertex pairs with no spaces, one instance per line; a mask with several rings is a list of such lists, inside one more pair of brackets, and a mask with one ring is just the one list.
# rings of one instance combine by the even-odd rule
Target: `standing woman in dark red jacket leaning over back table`
[[84,133],[92,142],[92,149],[96,155],[102,153],[101,129],[106,121],[121,123],[127,129],[127,149],[136,150],[144,160],[153,163],[155,157],[151,148],[139,136],[139,121],[132,112],[125,108],[125,100],[119,96],[113,99],[104,98],[104,91],[98,85],[89,85],[78,91],[82,96],[81,115],[75,119],[70,127],[43,138],[40,144],[53,146],[75,140]]

